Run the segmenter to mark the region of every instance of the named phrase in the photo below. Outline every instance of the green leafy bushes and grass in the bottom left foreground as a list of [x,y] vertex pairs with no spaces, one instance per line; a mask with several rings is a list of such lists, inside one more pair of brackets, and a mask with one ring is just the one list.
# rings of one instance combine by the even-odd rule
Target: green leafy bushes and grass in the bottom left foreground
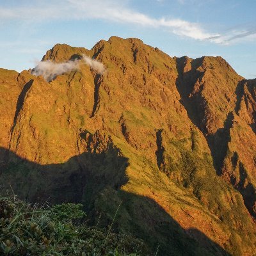
[[0,196],[0,255],[145,255],[140,240],[88,227],[85,216],[79,204],[36,207]]

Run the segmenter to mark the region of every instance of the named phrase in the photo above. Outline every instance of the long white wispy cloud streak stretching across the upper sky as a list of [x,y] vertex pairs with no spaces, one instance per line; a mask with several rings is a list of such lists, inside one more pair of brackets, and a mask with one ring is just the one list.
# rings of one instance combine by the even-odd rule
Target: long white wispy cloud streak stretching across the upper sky
[[[195,40],[205,40],[214,44],[228,45],[242,38],[252,38],[256,29],[243,31],[228,31],[226,33],[212,33],[206,31],[202,24],[182,19],[155,18],[132,10],[127,5],[128,0],[65,0],[46,1],[44,6],[40,2],[31,2],[30,6],[16,8],[0,8],[0,22],[8,20],[25,20],[26,22],[47,22],[50,20],[86,20],[101,19],[124,24],[135,24],[148,28],[162,28],[170,33]],[[159,1],[159,0],[157,0]],[[178,0],[184,3],[184,0]]]

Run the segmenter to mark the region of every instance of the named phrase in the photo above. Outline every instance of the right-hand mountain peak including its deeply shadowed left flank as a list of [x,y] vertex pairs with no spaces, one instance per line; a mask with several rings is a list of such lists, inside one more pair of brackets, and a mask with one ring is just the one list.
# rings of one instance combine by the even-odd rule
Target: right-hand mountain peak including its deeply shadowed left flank
[[216,173],[241,192],[255,217],[253,81],[238,76],[220,57],[179,58],[177,70],[180,102],[204,133]]

